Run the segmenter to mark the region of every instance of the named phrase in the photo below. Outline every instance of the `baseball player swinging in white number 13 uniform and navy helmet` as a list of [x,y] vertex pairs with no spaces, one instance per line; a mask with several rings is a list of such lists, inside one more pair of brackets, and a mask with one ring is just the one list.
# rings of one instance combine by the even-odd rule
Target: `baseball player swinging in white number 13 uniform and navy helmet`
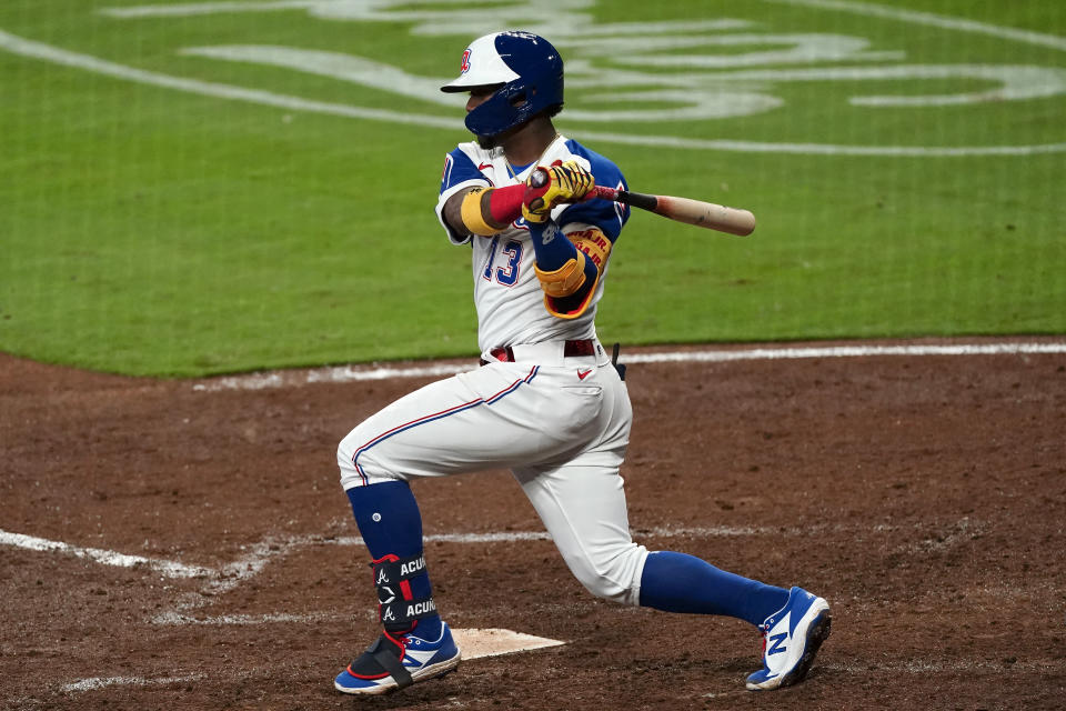
[[408,482],[499,468],[513,472],[592,594],[746,620],[764,635],[763,668],[747,688],[801,681],[829,633],[825,600],[650,552],[630,537],[619,468],[632,410],[594,324],[628,209],[586,199],[596,184],[626,184],[614,163],[555,130],[559,52],[535,34],[487,34],[442,90],[469,92],[476,139],[445,158],[436,214],[447,239],[471,250],[481,367],[401,398],[338,448],[383,630],[335,688],[378,694],[459,664]]

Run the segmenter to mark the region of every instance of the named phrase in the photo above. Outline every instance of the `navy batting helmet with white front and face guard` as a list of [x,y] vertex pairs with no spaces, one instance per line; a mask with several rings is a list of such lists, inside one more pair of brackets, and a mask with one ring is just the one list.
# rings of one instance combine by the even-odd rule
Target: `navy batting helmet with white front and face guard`
[[441,91],[475,87],[496,91],[466,114],[466,128],[476,136],[496,136],[563,106],[563,60],[551,42],[530,32],[485,34],[470,43],[459,78]]

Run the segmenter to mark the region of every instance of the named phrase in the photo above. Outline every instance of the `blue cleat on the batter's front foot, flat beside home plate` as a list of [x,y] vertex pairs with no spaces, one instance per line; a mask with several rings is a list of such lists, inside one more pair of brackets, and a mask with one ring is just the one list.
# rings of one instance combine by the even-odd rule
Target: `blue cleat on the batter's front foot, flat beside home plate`
[[460,652],[447,624],[426,640],[409,632],[384,632],[333,680],[343,693],[379,694],[404,689],[419,681],[443,677],[459,667]]

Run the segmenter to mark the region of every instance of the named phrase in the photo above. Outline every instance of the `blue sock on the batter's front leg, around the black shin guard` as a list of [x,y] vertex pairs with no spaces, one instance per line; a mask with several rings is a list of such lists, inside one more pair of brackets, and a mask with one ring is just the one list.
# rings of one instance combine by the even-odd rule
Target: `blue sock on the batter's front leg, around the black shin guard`
[[[422,555],[422,512],[405,481],[389,481],[349,489],[355,523],[366,550],[378,561],[386,555],[400,559]],[[405,581],[414,600],[430,598],[433,588],[425,569]],[[441,633],[438,614],[418,621],[419,637],[436,639]]]

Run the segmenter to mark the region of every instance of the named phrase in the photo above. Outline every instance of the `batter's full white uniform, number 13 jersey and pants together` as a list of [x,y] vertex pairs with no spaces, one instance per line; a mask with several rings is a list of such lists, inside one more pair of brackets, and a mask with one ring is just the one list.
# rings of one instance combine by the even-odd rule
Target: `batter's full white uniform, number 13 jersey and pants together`
[[[596,184],[625,188],[613,163],[563,138],[537,163],[571,158]],[[531,168],[512,174],[502,151],[460,146],[444,166],[438,216],[457,190],[524,182]],[[594,226],[613,243],[628,211],[591,200],[561,206],[552,217],[564,230]],[[419,388],[349,432],[336,450],[341,485],[509,468],[577,579],[593,594],[638,604],[647,549],[630,537],[619,475],[633,410],[595,336],[603,279],[581,317],[561,319],[544,306],[523,220],[495,237],[444,229],[456,244],[472,242],[479,342],[489,362]],[[593,341],[593,351],[567,356],[564,341],[582,339]],[[512,347],[513,360],[487,353],[500,347]]]

